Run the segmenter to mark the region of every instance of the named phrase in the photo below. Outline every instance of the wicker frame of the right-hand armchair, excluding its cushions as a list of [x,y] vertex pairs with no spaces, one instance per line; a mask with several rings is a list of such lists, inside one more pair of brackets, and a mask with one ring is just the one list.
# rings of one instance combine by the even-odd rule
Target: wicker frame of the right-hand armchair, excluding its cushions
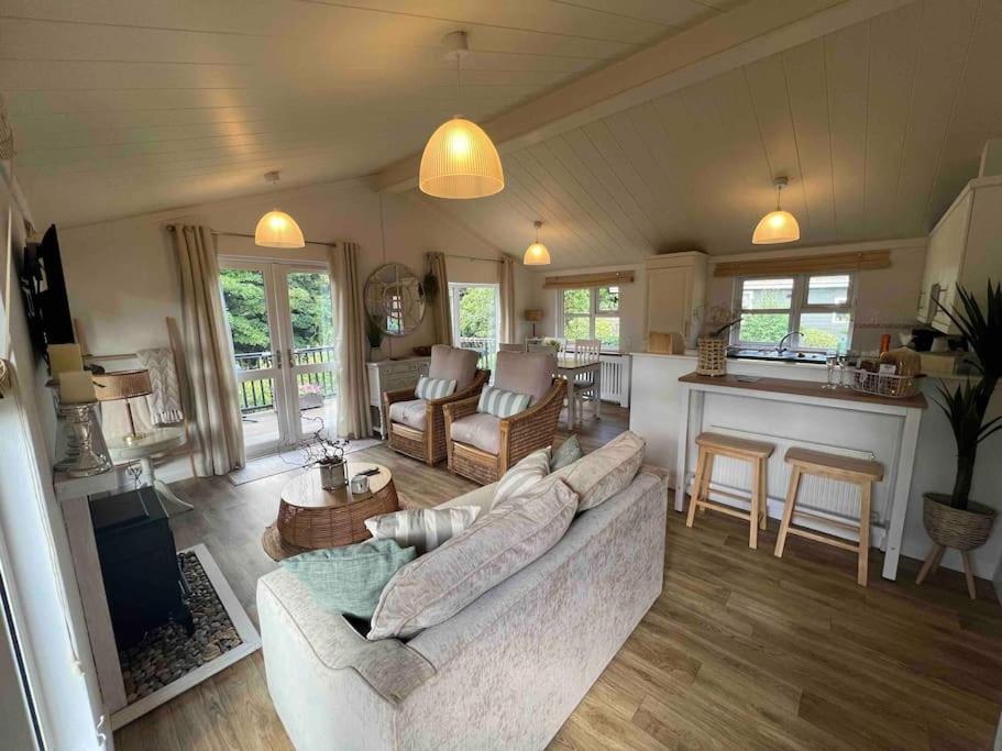
[[566,383],[554,378],[553,385],[529,409],[498,421],[500,441],[498,453],[492,454],[477,446],[453,440],[452,423],[476,412],[478,397],[461,399],[445,406],[445,446],[450,472],[467,477],[481,485],[500,478],[508,467],[528,454],[553,443],[557,421],[563,407]]

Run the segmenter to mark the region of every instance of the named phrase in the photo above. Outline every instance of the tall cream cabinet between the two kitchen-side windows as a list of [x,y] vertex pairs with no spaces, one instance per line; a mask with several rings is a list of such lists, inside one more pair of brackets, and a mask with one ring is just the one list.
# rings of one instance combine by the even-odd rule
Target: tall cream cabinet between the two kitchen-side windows
[[647,339],[651,331],[681,333],[689,346],[698,331],[693,312],[706,297],[706,254],[698,251],[652,255],[647,266]]

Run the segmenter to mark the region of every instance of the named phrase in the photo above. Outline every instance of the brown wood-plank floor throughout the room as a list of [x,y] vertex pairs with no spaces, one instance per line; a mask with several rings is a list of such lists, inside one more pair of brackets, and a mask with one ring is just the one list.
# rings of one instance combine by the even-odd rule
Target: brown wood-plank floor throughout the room
[[[625,410],[581,432],[586,449],[625,428]],[[362,456],[360,452],[359,456]],[[472,488],[448,472],[368,449],[389,465],[401,500],[429,506]],[[406,470],[406,475],[404,473]],[[232,486],[173,487],[196,510],[172,521],[178,546],[205,542],[256,622],[260,545],[287,475]],[[971,603],[962,577],[914,585],[855,583],[855,557],[807,540],[772,555],[775,527],[747,548],[740,521],[708,511],[686,529],[669,512],[664,592],[592,687],[553,749],[988,749],[1002,710],[1002,607],[990,585]],[[880,554],[870,568],[880,571]],[[261,654],[115,733],[115,747],[289,749],[272,709]]]

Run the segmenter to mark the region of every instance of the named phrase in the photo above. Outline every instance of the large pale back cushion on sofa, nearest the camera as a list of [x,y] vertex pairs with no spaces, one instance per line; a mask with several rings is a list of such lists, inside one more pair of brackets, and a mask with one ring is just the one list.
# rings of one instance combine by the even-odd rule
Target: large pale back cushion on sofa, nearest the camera
[[448,620],[550,550],[576,509],[577,494],[562,482],[503,501],[397,572],[379,597],[367,638],[410,637]]

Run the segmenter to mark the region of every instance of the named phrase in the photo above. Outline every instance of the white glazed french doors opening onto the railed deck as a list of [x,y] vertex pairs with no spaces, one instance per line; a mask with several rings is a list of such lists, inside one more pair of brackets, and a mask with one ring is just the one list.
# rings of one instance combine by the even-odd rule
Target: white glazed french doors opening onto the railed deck
[[337,434],[338,369],[323,266],[220,259],[249,456]]

